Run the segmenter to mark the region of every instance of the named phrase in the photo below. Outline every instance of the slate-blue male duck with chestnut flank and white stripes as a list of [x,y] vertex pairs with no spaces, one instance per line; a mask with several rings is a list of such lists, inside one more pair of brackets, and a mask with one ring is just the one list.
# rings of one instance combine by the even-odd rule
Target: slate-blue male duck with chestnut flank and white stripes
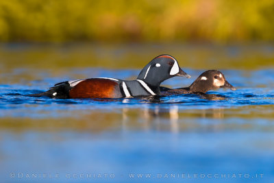
[[108,77],[66,81],[55,84],[45,93],[28,95],[56,99],[123,98],[160,94],[160,84],[174,76],[190,77],[175,58],[161,55],[149,62],[136,80],[126,81]]

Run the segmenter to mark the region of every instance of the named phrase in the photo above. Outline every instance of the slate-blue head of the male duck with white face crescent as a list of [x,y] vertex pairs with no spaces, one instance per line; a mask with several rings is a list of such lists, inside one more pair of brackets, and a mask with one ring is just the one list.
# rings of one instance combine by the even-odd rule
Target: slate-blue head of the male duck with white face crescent
[[137,80],[142,80],[150,86],[160,86],[161,82],[174,76],[191,77],[182,71],[173,56],[161,55],[153,58],[153,60],[142,69]]

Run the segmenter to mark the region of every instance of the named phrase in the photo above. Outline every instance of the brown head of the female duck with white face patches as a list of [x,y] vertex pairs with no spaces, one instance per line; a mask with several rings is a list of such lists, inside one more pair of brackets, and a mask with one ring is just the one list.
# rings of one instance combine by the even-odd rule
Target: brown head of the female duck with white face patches
[[197,93],[206,93],[209,90],[218,88],[229,88],[230,90],[236,90],[234,86],[227,82],[225,75],[217,70],[203,72],[190,86],[190,90]]

